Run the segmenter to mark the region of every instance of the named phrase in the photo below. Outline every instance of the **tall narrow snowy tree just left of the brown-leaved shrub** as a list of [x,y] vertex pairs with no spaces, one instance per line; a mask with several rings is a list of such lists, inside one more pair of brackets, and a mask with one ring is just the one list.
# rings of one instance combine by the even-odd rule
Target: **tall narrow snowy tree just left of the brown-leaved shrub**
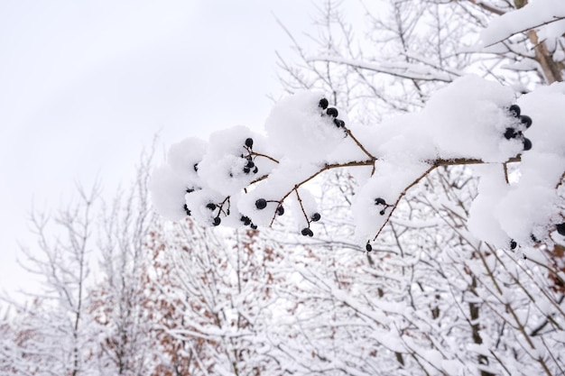
[[[148,199],[153,150],[142,155],[134,183],[118,191],[98,223],[99,280],[92,289],[90,312],[97,323],[100,374],[151,374],[160,349],[146,300],[150,298],[147,249],[155,218]],[[96,328],[96,329],[95,329]]]

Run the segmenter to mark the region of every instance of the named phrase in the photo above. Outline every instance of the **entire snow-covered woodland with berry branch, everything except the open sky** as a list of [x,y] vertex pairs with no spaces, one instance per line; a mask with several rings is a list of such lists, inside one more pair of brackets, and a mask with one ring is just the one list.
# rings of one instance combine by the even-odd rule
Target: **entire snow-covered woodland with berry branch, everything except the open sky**
[[33,213],[0,375],[565,374],[565,3],[346,11],[280,21],[264,132]]

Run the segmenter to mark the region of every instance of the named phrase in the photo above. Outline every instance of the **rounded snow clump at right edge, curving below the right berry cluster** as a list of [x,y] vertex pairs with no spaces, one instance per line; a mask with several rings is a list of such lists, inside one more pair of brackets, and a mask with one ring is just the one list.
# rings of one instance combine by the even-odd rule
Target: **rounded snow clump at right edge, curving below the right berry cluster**
[[520,179],[507,185],[502,174],[481,175],[469,218],[477,237],[498,246],[507,242],[505,235],[517,243],[532,243],[532,234],[540,239],[551,225],[563,222],[563,199],[555,187],[565,171],[565,84],[542,87],[522,96],[518,104],[535,119],[527,133],[533,148],[522,154]]

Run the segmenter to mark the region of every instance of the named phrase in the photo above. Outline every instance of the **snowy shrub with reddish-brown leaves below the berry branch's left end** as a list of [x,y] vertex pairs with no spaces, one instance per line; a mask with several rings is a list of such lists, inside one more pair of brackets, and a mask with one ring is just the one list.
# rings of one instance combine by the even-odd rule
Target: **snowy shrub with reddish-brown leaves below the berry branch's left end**
[[171,374],[280,374],[265,337],[280,247],[255,230],[218,237],[191,221],[154,234],[162,293],[155,319],[177,358]]

